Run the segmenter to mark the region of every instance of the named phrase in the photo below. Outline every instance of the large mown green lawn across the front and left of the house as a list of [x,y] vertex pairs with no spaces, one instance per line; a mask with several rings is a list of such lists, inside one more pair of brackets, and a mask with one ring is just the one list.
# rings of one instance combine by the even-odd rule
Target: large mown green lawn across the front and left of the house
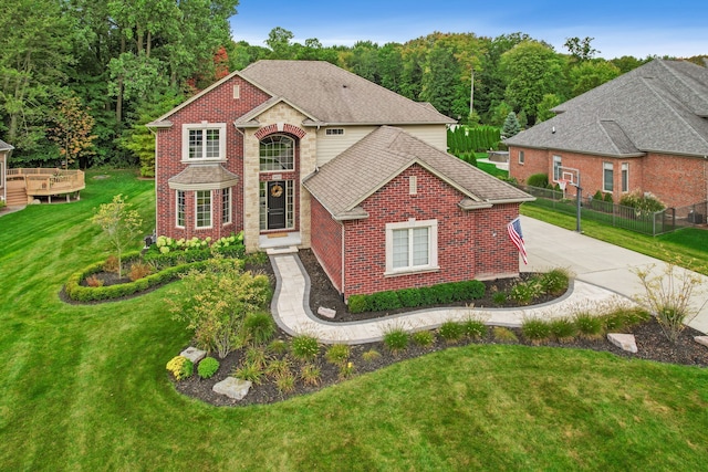
[[[708,370],[608,354],[471,345],[270,406],[178,394],[188,344],[162,287],[69,305],[65,279],[108,254],[93,208],[154,187],[88,174],[82,201],[0,218],[2,470],[701,470]],[[139,247],[136,241],[135,249]],[[425,406],[425,408],[421,408]]]

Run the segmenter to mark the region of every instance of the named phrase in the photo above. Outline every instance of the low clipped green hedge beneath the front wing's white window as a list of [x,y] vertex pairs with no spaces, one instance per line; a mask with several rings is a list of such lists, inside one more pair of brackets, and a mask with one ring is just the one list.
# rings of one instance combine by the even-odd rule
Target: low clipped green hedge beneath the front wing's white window
[[348,308],[351,313],[364,313],[465,302],[483,297],[485,290],[486,286],[480,281],[465,281],[377,292],[371,295],[352,295],[348,298]]

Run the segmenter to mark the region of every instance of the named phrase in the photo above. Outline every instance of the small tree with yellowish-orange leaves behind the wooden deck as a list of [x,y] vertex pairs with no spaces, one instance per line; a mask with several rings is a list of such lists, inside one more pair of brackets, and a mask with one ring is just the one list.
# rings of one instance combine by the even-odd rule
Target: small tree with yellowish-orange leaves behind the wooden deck
[[63,98],[56,108],[53,128],[49,129],[49,137],[59,146],[59,153],[64,160],[64,168],[79,157],[94,154],[92,135],[94,119],[88,109],[81,107],[77,96]]

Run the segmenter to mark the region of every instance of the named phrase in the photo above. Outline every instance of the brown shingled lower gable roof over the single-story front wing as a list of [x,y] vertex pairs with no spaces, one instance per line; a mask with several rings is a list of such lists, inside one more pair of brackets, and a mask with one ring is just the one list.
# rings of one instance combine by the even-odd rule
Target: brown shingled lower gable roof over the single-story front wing
[[414,164],[458,189],[465,196],[460,201],[465,209],[534,199],[393,126],[373,130],[305,177],[303,186],[335,219],[366,218],[360,204]]

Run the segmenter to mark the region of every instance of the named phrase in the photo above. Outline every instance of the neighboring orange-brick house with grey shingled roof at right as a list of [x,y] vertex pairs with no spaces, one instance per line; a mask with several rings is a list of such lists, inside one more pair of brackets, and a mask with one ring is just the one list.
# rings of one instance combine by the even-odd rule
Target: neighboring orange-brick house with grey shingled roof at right
[[[708,69],[654,60],[553,109],[506,140],[510,176],[556,181],[580,170],[583,196],[650,192],[668,207],[708,200]],[[574,190],[570,190],[574,193]]]

